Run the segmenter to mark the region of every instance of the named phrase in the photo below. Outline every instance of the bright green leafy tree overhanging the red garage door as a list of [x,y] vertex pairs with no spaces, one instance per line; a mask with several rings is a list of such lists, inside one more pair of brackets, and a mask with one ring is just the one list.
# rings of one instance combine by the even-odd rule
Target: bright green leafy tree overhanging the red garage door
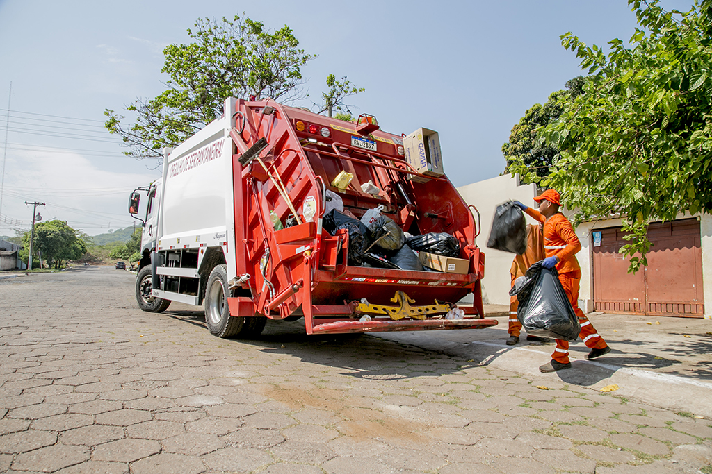
[[560,149],[545,184],[577,208],[576,222],[622,217],[630,234],[621,252],[637,271],[648,222],[712,210],[712,1],[687,12],[628,4],[645,28],[630,48],[614,39],[604,53],[562,36],[590,80],[541,136]]

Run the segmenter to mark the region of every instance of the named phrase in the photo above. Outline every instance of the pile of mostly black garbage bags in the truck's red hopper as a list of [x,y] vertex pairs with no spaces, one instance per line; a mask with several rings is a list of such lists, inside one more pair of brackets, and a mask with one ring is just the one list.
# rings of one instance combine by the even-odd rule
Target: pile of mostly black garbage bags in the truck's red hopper
[[374,268],[438,271],[422,264],[420,252],[444,257],[460,256],[457,239],[446,232],[409,235],[387,215],[383,206],[365,212],[361,219],[344,210],[336,193],[328,191],[323,227],[331,235],[348,233],[348,264]]

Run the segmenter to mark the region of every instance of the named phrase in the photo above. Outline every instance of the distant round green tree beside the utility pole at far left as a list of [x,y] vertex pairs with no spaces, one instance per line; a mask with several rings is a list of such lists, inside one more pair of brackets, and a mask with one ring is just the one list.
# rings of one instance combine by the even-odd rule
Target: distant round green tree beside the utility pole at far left
[[[22,245],[25,247],[21,256],[27,260],[30,247],[31,232],[25,232]],[[88,250],[86,239],[82,232],[69,227],[62,220],[50,220],[35,225],[35,240],[32,247],[33,267],[39,266],[40,255],[49,268],[59,268],[63,261],[76,260]]]

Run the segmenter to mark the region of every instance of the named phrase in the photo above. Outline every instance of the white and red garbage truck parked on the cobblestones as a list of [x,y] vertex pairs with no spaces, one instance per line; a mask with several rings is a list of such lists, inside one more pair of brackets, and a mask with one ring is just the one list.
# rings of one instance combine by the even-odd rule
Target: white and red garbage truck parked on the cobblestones
[[[130,196],[143,226],[140,308],[203,306],[221,338],[254,338],[268,319],[303,318],[308,334],[496,325],[482,306],[478,212],[444,174],[409,162],[404,137],[367,114],[345,122],[226,99],[221,117],[164,149],[162,178]],[[422,251],[424,265],[403,269],[372,253],[356,225],[325,226],[335,212],[357,222],[374,210],[406,238],[449,236],[457,254]],[[372,258],[355,262],[364,242]]]

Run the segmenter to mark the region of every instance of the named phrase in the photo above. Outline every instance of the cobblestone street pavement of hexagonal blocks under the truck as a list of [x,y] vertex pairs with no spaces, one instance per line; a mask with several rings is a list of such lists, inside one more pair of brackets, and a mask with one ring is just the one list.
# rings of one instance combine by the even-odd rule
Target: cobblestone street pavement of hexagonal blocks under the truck
[[298,322],[221,340],[133,279],[0,280],[0,471],[712,473],[712,421]]

